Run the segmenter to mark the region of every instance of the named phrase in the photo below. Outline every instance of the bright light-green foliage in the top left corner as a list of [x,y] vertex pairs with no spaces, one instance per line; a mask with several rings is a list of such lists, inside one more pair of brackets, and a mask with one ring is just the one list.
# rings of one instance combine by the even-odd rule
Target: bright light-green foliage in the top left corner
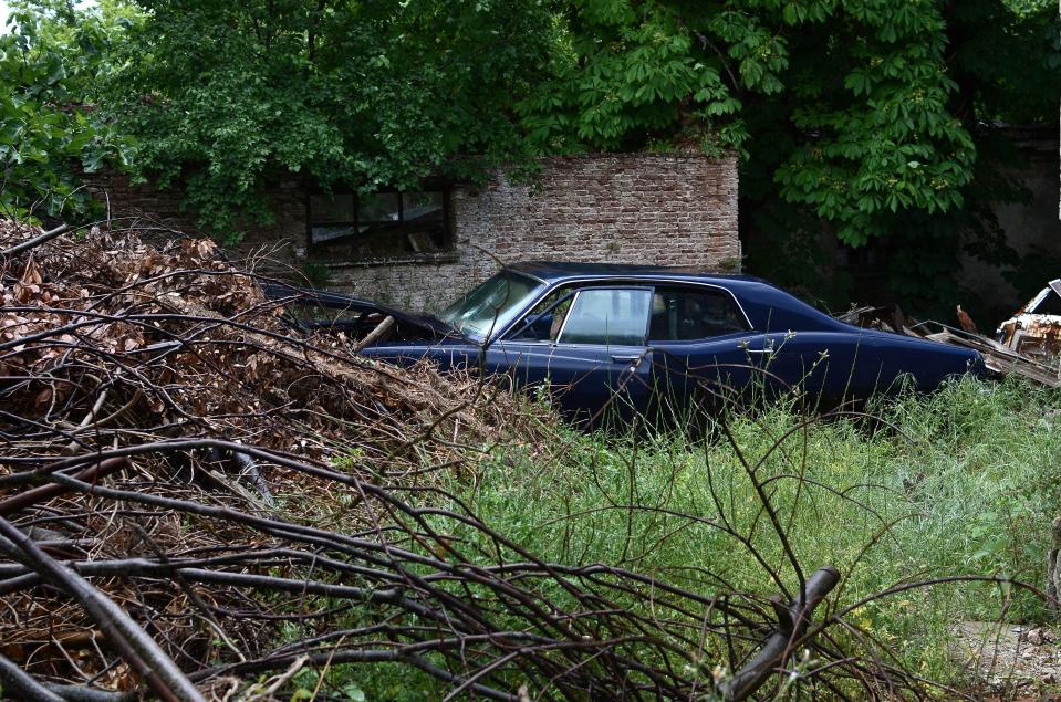
[[98,23],[60,29],[55,15],[18,8],[0,35],[0,213],[77,219],[91,200],[79,170],[122,161],[125,142],[84,104],[101,71]]

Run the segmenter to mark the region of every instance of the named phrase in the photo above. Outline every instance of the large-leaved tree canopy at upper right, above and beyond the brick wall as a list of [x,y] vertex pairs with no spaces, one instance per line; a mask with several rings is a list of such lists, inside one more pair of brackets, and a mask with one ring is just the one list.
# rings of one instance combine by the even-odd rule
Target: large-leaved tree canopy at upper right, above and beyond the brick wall
[[971,119],[1061,94],[1041,2],[573,0],[563,49],[520,105],[541,150],[715,151],[781,128],[781,197],[854,245],[882,213],[963,206]]

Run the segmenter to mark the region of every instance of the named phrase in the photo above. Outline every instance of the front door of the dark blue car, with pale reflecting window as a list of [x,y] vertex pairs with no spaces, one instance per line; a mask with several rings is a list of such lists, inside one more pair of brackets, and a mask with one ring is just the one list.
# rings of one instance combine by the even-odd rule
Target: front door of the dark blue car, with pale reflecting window
[[548,387],[581,423],[628,419],[645,409],[652,390],[651,305],[647,286],[554,291],[490,346],[486,364],[518,386]]

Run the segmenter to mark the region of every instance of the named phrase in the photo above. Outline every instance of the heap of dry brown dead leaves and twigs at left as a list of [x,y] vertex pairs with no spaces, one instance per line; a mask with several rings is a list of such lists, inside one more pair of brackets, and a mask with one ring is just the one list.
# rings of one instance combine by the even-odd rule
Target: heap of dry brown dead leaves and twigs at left
[[[0,220],[0,251],[39,234]],[[25,476],[56,462],[93,484],[351,532],[366,517],[349,488],[195,442],[253,446],[364,480],[415,484],[433,467],[459,470],[513,437],[533,442],[535,427],[551,421],[475,378],[381,365],[352,353],[341,335],[293,331],[257,276],[210,241],[154,247],[134,231],[93,228],[0,255],[0,517],[63,559],[225,556],[284,542],[164,505],[69,490],[34,496],[42,481]],[[139,452],[160,443],[179,447]],[[127,448],[136,452],[119,465],[83,472],[101,452]],[[280,556],[262,563],[272,575],[294,567]],[[0,553],[0,656],[54,681],[141,684],[80,607],[61,593],[10,585],[8,565]],[[94,583],[145,621],[183,668],[210,666],[225,649],[254,654],[282,622],[223,614],[250,606],[243,590],[225,584]]]

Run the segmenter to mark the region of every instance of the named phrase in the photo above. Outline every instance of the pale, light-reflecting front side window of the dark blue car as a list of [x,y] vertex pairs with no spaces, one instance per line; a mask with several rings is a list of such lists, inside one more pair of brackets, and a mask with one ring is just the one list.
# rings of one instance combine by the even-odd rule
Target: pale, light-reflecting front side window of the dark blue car
[[560,331],[560,344],[643,346],[652,307],[646,289],[579,291]]

